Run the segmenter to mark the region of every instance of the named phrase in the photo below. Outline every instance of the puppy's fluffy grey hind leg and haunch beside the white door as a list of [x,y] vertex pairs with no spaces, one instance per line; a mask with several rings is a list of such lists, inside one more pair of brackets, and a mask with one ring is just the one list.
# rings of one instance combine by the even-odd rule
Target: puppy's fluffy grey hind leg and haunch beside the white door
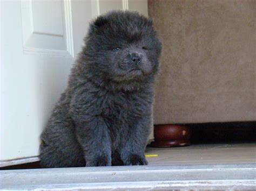
[[63,110],[53,112],[41,140],[39,158],[42,167],[85,166],[83,150],[77,141],[72,119]]

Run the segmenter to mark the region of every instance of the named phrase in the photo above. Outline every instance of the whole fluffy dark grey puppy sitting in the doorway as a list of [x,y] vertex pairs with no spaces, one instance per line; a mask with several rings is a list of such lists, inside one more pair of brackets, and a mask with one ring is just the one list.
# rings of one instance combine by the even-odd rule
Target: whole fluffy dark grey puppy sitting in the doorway
[[42,167],[147,165],[160,52],[152,20],[137,12],[93,20],[42,132]]

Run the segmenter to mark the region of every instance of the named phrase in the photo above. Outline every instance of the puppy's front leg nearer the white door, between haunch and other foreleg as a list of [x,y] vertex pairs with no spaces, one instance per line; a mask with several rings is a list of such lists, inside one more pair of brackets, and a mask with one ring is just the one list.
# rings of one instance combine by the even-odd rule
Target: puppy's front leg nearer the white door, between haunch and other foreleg
[[110,137],[102,117],[79,123],[77,137],[84,151],[86,166],[111,166]]

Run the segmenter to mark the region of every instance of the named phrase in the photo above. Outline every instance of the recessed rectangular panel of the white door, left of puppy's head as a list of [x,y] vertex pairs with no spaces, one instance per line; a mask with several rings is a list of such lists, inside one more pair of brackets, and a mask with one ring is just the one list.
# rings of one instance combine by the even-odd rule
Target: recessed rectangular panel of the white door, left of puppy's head
[[74,56],[70,1],[22,1],[26,53]]

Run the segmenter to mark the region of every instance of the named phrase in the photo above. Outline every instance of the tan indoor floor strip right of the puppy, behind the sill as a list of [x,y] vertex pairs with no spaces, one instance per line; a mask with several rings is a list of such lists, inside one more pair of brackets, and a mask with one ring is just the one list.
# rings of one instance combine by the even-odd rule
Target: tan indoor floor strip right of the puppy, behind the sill
[[146,148],[149,165],[256,163],[256,143],[197,144],[186,147]]

